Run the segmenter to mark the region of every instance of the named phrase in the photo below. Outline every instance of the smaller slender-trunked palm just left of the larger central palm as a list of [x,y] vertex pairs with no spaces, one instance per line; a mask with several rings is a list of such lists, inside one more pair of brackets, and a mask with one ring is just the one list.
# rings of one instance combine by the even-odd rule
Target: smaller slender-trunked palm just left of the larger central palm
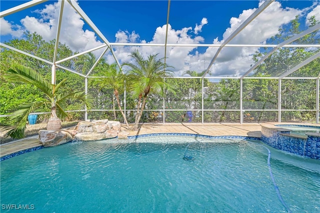
[[[120,112],[123,116],[124,122],[129,129],[128,121],[126,120],[126,116],[121,108],[119,93],[123,92],[124,89],[124,80],[125,76],[122,73],[121,69],[117,68],[116,63],[112,63],[111,65],[107,63],[103,63],[99,67],[97,67],[99,76],[104,76],[101,78],[94,78],[94,84],[97,84],[100,89],[104,87],[111,87],[113,89],[113,94],[115,96],[116,102],[120,109]],[[113,106],[114,107],[114,106]]]

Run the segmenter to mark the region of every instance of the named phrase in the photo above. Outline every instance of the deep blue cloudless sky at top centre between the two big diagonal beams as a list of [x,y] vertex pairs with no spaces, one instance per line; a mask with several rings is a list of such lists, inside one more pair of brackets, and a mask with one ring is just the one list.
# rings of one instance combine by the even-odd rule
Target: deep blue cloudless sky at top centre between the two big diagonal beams
[[[220,9],[225,7],[226,3],[232,4],[228,9]],[[121,4],[121,5],[120,5]],[[90,1],[81,0],[79,5],[89,15],[96,25],[104,25],[105,19],[115,18],[114,24],[111,22],[110,28],[101,29],[111,42],[115,41],[114,34],[117,30],[128,30],[139,33],[140,37],[145,40],[151,40],[154,30],[157,26],[166,23],[166,14],[168,2],[165,0],[152,1],[108,1],[104,6],[104,10],[95,10],[95,5]],[[201,35],[205,37],[204,42],[212,42],[216,36],[221,36],[224,30],[230,25],[229,18],[237,16],[243,9],[253,8],[258,5],[256,0],[247,1],[181,1],[172,0],[170,2],[169,23],[173,28],[179,29],[187,26],[194,26],[199,23],[203,15],[208,18],[210,23],[202,30]],[[134,9],[132,9],[134,8]],[[154,8],[154,9],[153,9]],[[212,9],[214,9],[212,11]],[[229,18],[226,18],[229,17]],[[215,30],[211,30],[214,27]],[[211,28],[211,29],[210,29]],[[110,29],[110,31],[108,31]],[[109,36],[108,36],[109,35]]]

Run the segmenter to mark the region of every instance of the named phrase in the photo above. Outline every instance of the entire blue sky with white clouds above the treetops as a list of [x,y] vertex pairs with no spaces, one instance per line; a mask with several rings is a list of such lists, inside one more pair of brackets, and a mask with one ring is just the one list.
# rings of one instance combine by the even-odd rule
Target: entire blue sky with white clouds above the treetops
[[[1,0],[1,11],[26,1]],[[78,0],[78,5],[93,21],[109,42],[164,43],[168,2],[166,0]],[[222,43],[238,25],[256,8],[258,0],[171,0],[168,43]],[[21,38],[22,32],[36,31],[45,40],[56,33],[57,1],[46,1],[34,7],[1,18],[1,42]],[[85,24],[69,5],[65,6],[62,19],[61,42],[74,51],[84,51],[102,44],[102,40]],[[305,19],[316,15],[320,19],[320,3],[312,0],[285,0],[273,2],[233,40],[233,43],[268,43],[277,29],[300,15],[301,29]],[[134,49],[144,55],[159,53],[164,47],[113,46],[118,59],[130,59]],[[173,65],[176,75],[185,70],[202,71],[213,57],[216,47],[168,47],[167,62]],[[254,48],[223,49],[211,67],[215,76],[238,76],[249,69]],[[102,50],[94,53],[99,55]],[[114,59],[106,54],[108,62]]]

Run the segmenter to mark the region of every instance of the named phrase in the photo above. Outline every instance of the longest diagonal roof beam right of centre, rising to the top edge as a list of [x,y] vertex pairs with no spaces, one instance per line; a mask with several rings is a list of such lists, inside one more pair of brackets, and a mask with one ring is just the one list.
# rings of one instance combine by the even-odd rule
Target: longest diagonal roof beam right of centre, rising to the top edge
[[227,37],[223,43],[221,44],[221,46],[218,48],[218,50],[215,52],[212,60],[210,61],[208,67],[206,68],[205,72],[203,73],[202,77],[204,77],[209,69],[211,68],[213,62],[215,61],[216,57],[218,56],[218,54],[220,53],[221,49],[223,48],[223,46],[225,44],[227,44],[232,38],[235,37],[235,35],[237,35],[242,29],[244,29],[244,27],[246,25],[248,25],[256,16],[258,16],[258,14],[260,14],[268,5],[270,5],[270,3],[272,3],[274,0],[267,0],[267,1],[264,1],[264,3],[262,3],[259,8],[257,8],[245,21],[243,21],[241,23],[241,25],[236,28],[230,35],[229,37]]

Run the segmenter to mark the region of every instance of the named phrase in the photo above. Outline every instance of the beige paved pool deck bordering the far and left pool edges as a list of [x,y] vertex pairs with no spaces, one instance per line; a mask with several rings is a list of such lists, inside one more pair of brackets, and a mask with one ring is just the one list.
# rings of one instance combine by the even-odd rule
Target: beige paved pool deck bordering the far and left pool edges
[[[277,123],[264,123],[277,124]],[[303,123],[281,123],[281,124],[303,124]],[[318,124],[315,124],[318,125]],[[123,133],[126,135],[140,135],[149,133],[192,133],[210,136],[250,136],[261,137],[260,123],[144,123],[139,126],[137,131],[125,131],[122,125]],[[38,135],[11,141],[0,145],[0,157],[40,146]]]

